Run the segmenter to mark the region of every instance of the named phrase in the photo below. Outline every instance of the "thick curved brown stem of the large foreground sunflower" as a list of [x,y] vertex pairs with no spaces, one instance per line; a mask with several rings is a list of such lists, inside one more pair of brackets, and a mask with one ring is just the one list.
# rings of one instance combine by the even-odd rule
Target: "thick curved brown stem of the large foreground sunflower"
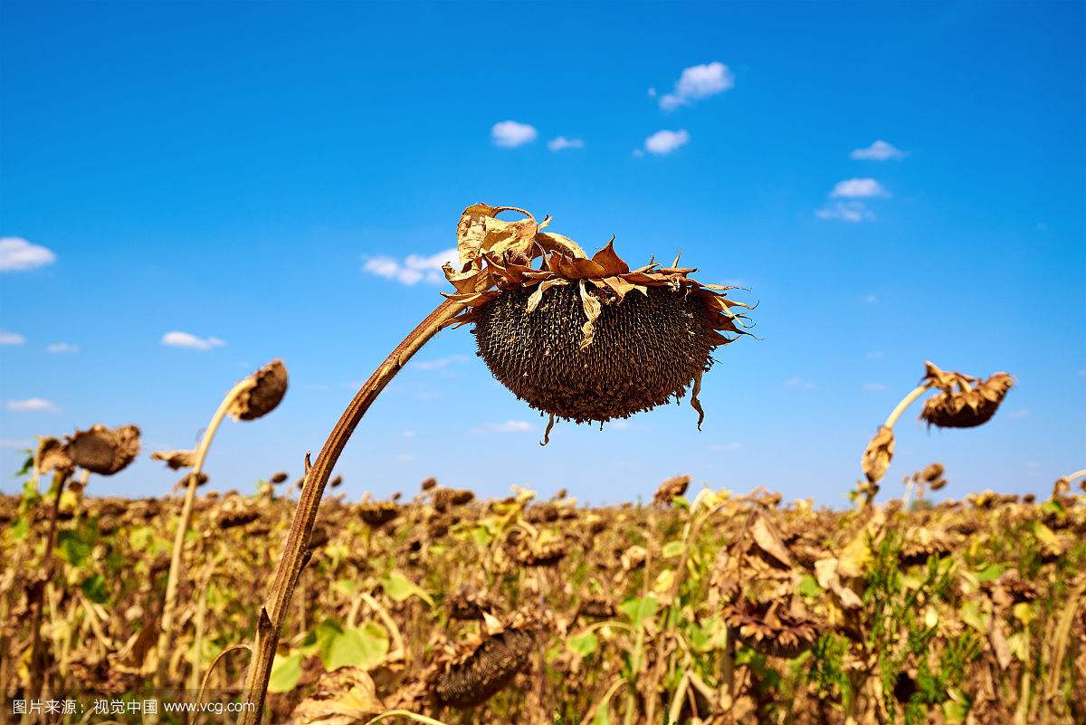
[[355,394],[354,399],[351,400],[336,423],[336,428],[328,435],[317,460],[305,472],[305,486],[298,499],[294,519],[290,524],[290,532],[287,534],[279,563],[276,565],[267,598],[261,608],[256,625],[256,639],[253,646],[253,659],[249,665],[249,672],[245,674],[244,700],[254,703],[255,707],[251,711],[242,713],[238,721],[239,725],[256,725],[264,711],[264,698],[267,694],[268,677],[272,675],[272,661],[275,659],[276,647],[279,644],[279,632],[282,629],[291,595],[294,593],[294,586],[298,584],[298,577],[308,554],[308,542],[313,535],[317,507],[320,505],[320,497],[325,493],[325,485],[328,483],[336,461],[343,453],[343,448],[358,425],[358,421],[366,415],[369,406],[389,384],[389,381],[400,372],[404,364],[422,345],[441,330],[444,322],[452,319],[463,308],[464,305],[460,302],[453,300],[442,302],[418,327],[412,330],[411,334],[396,345],[395,349]]

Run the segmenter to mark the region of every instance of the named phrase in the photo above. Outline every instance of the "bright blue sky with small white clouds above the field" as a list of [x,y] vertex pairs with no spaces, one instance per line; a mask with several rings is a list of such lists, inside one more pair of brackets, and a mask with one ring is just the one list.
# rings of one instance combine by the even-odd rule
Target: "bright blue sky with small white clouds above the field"
[[[950,496],[1086,465],[1081,3],[0,12],[0,471],[97,421],[191,446],[278,356],[282,405],[227,424],[207,471],[296,475],[439,302],[479,201],[639,264],[682,250],[750,288],[762,339],[719,351],[700,433],[669,406],[541,448],[544,421],[443,332],[352,440],[350,496],[435,475],[607,503],[691,473],[844,504],[925,359],[1019,385],[977,430],[908,414],[887,491],[935,460]],[[176,478],[144,457],[92,485]]]

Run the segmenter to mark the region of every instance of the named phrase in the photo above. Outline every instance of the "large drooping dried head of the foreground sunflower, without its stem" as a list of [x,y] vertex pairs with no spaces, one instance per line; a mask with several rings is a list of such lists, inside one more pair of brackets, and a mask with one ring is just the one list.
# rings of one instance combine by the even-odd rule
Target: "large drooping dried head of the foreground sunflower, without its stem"
[[[503,211],[526,218],[503,221]],[[678,258],[630,269],[611,242],[590,258],[542,231],[547,224],[514,207],[465,209],[459,268],[445,265],[445,276],[456,288],[449,296],[467,307],[450,323],[475,322],[494,377],[554,418],[628,418],[692,386],[700,424],[697,392],[712,351],[746,334],[746,317],[732,308],[747,305],[723,295],[735,288],[702,284]]]

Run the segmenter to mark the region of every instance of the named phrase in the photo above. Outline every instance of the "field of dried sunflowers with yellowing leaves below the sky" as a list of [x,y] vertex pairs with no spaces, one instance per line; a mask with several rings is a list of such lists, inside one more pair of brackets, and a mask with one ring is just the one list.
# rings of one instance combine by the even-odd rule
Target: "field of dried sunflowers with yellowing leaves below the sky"
[[[411,503],[326,499],[267,716],[1086,722],[1082,496],[831,511],[686,483],[602,509],[517,488],[480,501],[432,481]],[[0,498],[0,686],[9,698],[30,686],[41,602],[47,691],[144,697],[180,498],[73,486],[47,578],[38,486]],[[230,648],[252,640],[295,506],[280,491],[195,499],[163,663],[190,698],[204,679],[205,699],[240,687],[250,654]]]

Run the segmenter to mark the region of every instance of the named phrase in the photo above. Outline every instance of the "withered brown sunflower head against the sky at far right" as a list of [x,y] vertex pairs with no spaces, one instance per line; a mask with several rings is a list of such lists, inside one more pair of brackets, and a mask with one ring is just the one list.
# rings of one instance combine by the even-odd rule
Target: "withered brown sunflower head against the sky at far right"
[[922,379],[938,391],[924,402],[920,417],[929,425],[938,428],[975,428],[988,422],[1014,378],[996,372],[987,380],[980,380],[960,372],[944,372],[934,364],[925,362],[927,372]]

